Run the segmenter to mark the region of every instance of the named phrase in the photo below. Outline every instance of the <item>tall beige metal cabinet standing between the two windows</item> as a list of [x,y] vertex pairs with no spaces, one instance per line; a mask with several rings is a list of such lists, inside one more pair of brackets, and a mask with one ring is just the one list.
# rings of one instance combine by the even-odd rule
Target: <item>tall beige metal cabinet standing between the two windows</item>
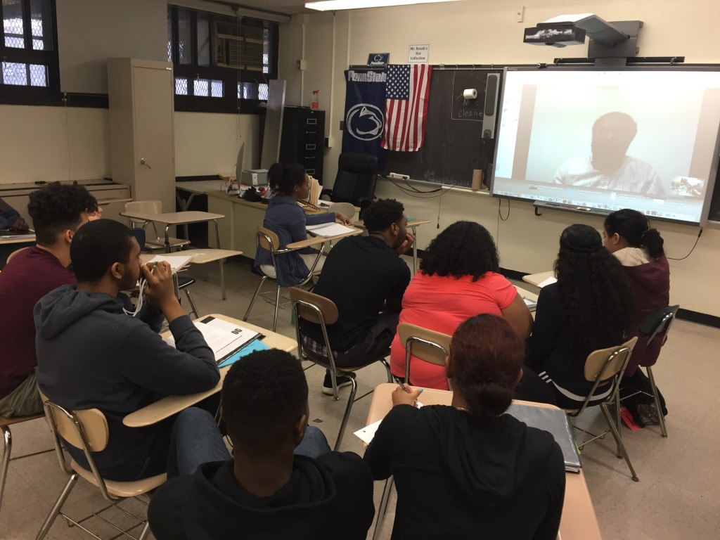
[[173,65],[108,58],[112,179],[135,200],[159,199],[175,210]]

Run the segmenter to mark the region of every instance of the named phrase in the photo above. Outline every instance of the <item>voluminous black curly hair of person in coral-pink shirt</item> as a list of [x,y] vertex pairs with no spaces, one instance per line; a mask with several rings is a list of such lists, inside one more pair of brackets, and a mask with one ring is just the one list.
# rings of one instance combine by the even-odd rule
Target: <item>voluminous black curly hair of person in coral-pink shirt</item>
[[420,261],[420,271],[428,276],[472,276],[474,282],[498,268],[500,256],[492,235],[472,221],[454,222],[446,228],[431,241]]

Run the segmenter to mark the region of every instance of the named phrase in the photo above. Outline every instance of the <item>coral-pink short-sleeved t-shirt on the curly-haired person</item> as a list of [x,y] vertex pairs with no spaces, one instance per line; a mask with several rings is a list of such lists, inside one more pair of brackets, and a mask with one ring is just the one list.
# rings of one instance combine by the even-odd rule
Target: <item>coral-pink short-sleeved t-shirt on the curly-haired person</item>
[[[501,310],[515,300],[516,294],[513,284],[495,272],[487,272],[477,282],[472,281],[472,276],[455,279],[418,272],[402,295],[400,323],[452,335],[460,323],[474,315],[502,316]],[[390,371],[396,377],[405,377],[405,346],[397,334],[390,347]],[[413,356],[410,359],[410,384],[447,390],[445,368]]]

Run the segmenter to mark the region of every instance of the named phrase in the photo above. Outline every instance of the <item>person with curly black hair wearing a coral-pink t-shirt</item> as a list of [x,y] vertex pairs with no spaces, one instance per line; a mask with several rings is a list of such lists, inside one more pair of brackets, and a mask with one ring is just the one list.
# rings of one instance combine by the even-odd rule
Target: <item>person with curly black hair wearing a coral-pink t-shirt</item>
[[[490,313],[502,316],[518,337],[530,336],[533,318],[517,289],[498,274],[500,258],[490,233],[475,222],[455,222],[428,246],[420,271],[402,297],[400,323],[410,323],[452,335],[464,320]],[[405,344],[395,335],[390,369],[405,377]],[[407,381],[406,381],[407,382]],[[410,359],[409,384],[447,390],[443,366]],[[554,404],[554,394],[531,372],[516,388],[521,400]]]

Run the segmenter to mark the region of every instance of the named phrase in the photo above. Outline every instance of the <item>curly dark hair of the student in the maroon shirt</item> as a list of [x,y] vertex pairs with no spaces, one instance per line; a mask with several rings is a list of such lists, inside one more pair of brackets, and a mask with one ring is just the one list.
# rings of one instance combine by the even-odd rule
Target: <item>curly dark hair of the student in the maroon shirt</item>
[[65,230],[77,230],[83,212],[95,212],[97,200],[78,184],[53,182],[30,194],[27,211],[32,218],[35,238],[41,246],[51,246]]

